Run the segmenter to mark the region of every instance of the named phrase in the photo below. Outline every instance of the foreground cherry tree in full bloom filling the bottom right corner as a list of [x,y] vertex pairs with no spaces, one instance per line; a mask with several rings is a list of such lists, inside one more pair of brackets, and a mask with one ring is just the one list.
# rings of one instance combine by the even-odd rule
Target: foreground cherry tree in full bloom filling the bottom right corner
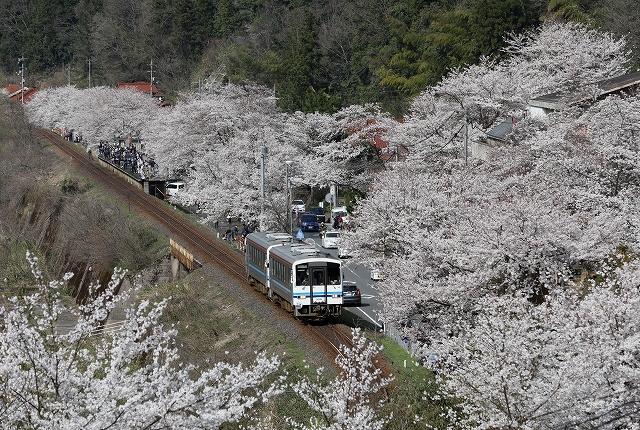
[[640,418],[638,269],[605,269],[586,296],[556,290],[540,305],[481,298],[457,336],[428,348],[445,391],[463,399],[448,411],[457,428],[632,428]]

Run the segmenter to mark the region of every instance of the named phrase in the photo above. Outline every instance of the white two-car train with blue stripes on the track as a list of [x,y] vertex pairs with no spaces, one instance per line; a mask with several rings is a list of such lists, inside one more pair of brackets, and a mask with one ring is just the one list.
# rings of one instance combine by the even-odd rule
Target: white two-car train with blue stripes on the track
[[286,233],[246,237],[249,283],[300,319],[324,320],[342,312],[342,262]]

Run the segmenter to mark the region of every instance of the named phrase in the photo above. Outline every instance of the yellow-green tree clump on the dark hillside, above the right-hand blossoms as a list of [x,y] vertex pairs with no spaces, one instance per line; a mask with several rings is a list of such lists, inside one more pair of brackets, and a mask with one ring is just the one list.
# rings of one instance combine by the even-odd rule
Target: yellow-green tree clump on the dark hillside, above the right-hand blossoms
[[380,84],[405,96],[419,94],[451,69],[480,56],[499,56],[508,32],[521,32],[537,18],[530,1],[441,2],[396,19],[395,53],[377,70]]

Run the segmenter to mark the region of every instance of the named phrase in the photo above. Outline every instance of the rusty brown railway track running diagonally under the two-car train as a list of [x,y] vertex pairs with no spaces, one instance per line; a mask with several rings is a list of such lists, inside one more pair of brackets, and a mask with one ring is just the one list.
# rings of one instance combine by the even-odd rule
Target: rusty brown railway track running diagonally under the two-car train
[[[145,193],[123,178],[102,168],[78,145],[69,143],[52,131],[38,130],[37,133],[43,142],[50,144],[63,159],[68,159],[72,166],[84,172],[89,180],[116,196],[121,203],[128,206],[129,210],[164,229],[181,246],[192,252],[198,261],[220,268],[235,281],[252,291],[257,299],[269,301],[264,294],[249,285],[242,254],[231,249],[226,243],[222,243],[202,225],[166,202]],[[274,303],[272,303],[273,305]],[[289,312],[277,307],[283,318],[296,321],[318,349],[332,360],[340,353],[341,345],[351,345],[351,337],[346,333],[348,329],[345,330],[344,325],[305,323],[295,320]]]

